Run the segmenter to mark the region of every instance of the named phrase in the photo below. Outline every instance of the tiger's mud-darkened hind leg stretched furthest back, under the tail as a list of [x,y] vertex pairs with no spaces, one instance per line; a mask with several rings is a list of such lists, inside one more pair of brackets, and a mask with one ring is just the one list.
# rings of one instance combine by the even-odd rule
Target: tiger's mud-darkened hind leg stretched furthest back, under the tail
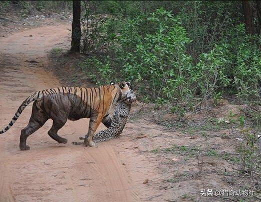
[[30,147],[26,145],[27,137],[33,132],[35,132],[37,129],[39,129],[47,120],[48,117],[37,106],[36,102],[34,102],[32,105],[32,113],[28,125],[21,130],[20,144],[19,144],[21,150],[30,149]]

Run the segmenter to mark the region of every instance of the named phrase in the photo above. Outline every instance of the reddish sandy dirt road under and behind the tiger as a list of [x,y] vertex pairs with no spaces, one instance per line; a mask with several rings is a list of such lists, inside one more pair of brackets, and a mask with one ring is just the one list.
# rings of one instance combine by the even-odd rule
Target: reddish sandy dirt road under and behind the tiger
[[[61,86],[42,67],[48,65],[47,51],[68,43],[67,28],[68,25],[44,26],[0,38],[0,127],[9,122],[31,92]],[[139,192],[146,170],[128,172],[122,163],[126,156],[115,150],[116,140],[91,148],[70,143],[87,132],[88,119],[67,121],[59,130],[68,139],[67,144],[58,144],[47,135],[51,126],[48,120],[28,137],[30,150],[20,151],[20,130],[28,122],[31,105],[0,136],[0,201],[144,199]],[[100,125],[99,129],[103,128]],[[134,167],[135,162],[131,163]]]

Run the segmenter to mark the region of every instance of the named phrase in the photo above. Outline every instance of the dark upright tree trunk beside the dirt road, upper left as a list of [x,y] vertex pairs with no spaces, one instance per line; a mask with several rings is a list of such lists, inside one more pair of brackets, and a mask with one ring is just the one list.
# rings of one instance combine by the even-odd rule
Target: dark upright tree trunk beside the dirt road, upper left
[[71,51],[80,51],[80,0],[72,1]]

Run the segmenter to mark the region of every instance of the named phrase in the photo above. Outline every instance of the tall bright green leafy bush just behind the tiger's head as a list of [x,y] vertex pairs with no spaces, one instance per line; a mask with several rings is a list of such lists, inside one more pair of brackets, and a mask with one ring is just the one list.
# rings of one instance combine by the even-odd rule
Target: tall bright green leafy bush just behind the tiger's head
[[[176,101],[189,96],[189,70],[191,57],[185,45],[190,42],[180,19],[164,9],[158,9],[148,17],[130,20],[131,31],[118,37],[123,66],[121,74],[126,79],[142,82],[150,87],[153,99]],[[150,27],[145,27],[147,25]],[[140,30],[140,33],[133,32]],[[147,33],[145,30],[148,30]]]

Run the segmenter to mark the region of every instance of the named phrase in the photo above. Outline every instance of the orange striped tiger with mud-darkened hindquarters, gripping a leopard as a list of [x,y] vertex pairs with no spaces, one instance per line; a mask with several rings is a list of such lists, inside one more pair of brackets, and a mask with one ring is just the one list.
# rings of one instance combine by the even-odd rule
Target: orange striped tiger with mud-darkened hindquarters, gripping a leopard
[[110,126],[111,117],[108,111],[115,102],[130,98],[129,86],[129,82],[120,81],[91,88],[57,87],[36,91],[21,103],[9,124],[0,130],[0,134],[7,131],[17,120],[22,110],[33,101],[29,122],[21,130],[20,150],[30,149],[26,145],[27,137],[39,129],[49,118],[53,122],[47,133],[59,143],[67,143],[67,139],[57,134],[67,119],[90,118],[84,144],[94,146],[92,136],[99,123],[102,122],[106,127]]

